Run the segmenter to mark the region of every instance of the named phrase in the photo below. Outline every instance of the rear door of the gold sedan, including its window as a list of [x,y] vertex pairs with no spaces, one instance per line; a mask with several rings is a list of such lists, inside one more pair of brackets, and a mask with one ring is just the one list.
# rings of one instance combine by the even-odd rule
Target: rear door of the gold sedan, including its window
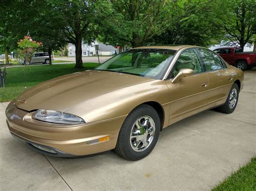
[[198,52],[204,62],[209,79],[208,103],[210,108],[225,103],[233,84],[232,74],[221,58],[206,48],[199,48]]

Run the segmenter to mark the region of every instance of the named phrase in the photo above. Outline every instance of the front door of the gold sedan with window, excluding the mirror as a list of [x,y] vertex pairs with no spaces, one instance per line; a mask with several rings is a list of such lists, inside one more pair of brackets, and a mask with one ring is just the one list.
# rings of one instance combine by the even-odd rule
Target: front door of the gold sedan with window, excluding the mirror
[[[172,79],[179,70],[184,68],[193,69],[194,74],[181,78],[177,83],[172,83]],[[196,48],[181,52],[172,68],[170,80],[166,80],[171,100],[169,125],[209,108],[208,84],[208,76]]]

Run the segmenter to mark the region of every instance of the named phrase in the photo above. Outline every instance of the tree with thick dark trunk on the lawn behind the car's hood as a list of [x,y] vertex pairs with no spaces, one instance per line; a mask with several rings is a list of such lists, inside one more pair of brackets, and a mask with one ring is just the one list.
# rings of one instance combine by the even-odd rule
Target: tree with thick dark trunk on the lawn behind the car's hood
[[[58,31],[57,37],[52,39],[72,43],[76,47],[76,68],[83,68],[82,41],[91,43],[96,39],[97,26],[95,25],[97,1],[53,1],[44,2],[48,13],[40,16],[41,19],[49,17],[51,22],[46,24],[46,29]],[[42,25],[42,24],[41,24]],[[44,27],[44,28],[45,28]],[[51,38],[51,37],[49,37]]]

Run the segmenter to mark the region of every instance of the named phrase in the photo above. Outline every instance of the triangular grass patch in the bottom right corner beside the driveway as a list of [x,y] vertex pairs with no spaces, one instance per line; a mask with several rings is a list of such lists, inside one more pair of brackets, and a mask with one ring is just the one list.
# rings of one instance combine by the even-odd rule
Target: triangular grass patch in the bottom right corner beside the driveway
[[256,157],[212,190],[256,190]]

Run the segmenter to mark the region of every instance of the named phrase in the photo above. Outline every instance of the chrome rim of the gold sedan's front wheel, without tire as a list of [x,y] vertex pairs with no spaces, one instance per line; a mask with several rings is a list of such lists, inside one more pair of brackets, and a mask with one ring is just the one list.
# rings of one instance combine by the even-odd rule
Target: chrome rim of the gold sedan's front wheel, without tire
[[150,116],[142,116],[132,126],[130,134],[130,145],[133,151],[145,151],[154,138],[156,126]]

